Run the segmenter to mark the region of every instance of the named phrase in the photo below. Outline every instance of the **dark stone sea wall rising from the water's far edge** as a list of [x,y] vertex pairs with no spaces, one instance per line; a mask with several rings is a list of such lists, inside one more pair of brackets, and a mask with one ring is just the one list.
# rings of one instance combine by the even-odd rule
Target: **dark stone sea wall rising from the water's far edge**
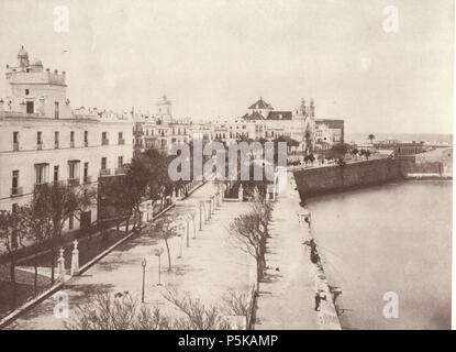
[[402,179],[402,162],[381,158],[294,172],[301,199]]

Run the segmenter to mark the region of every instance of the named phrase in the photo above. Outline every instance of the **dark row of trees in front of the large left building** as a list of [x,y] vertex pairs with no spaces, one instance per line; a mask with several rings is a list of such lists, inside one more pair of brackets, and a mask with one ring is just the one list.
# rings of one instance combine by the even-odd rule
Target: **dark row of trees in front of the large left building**
[[[126,167],[126,175],[108,177],[110,183],[102,187],[103,206],[113,209],[113,219],[119,234],[120,224],[129,222],[133,216],[133,227],[140,219],[140,206],[146,199],[160,200],[174,189],[188,191],[185,182],[171,182],[167,175],[169,156],[147,150],[136,154]],[[55,262],[58,246],[65,243],[63,230],[70,217],[80,220],[82,212],[89,210],[96,202],[98,189],[93,186],[71,185],[63,182],[36,186],[32,201],[25,206],[14,207],[11,211],[0,210],[0,248],[4,249],[10,266],[12,285],[11,308],[16,306],[18,285],[15,267],[20,251],[25,245],[34,249],[34,294],[37,295],[37,262],[43,249],[49,251],[51,284],[55,282]],[[100,216],[100,215],[99,215]],[[103,233],[109,221],[98,221],[99,230]]]

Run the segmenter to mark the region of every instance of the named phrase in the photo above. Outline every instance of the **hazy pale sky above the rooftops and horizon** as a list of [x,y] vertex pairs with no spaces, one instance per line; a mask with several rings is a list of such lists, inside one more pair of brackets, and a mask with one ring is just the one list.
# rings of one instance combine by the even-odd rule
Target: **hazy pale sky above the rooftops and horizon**
[[[53,28],[60,4],[68,33]],[[398,33],[382,28],[391,4]],[[67,72],[74,108],[152,111],[166,94],[175,116],[209,120],[313,97],[349,132],[445,133],[453,21],[451,0],[0,0],[0,74],[24,45]]]

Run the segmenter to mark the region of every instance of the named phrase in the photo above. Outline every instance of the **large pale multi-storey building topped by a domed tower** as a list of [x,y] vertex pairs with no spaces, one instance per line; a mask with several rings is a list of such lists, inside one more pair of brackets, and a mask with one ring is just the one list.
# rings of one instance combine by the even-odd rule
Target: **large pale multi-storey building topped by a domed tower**
[[[133,154],[129,112],[73,110],[65,72],[44,69],[22,47],[19,66],[7,66],[0,99],[0,209],[31,200],[36,186],[53,182],[97,187],[99,177],[121,174]],[[64,230],[97,220],[97,207],[70,219]]]

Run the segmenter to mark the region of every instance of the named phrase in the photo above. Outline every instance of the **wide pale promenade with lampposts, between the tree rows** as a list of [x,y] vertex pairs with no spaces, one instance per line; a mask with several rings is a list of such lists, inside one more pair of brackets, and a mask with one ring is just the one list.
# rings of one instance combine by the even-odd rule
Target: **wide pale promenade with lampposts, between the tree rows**
[[[198,202],[208,200],[214,193],[214,185],[208,183],[194,191],[189,198],[178,201],[170,212],[186,215],[190,210],[198,211]],[[179,293],[189,292],[192,297],[201,298],[204,304],[220,304],[229,289],[247,293],[255,280],[255,263],[252,258],[236,249],[231,242],[226,231],[232,219],[245,211],[246,205],[242,202],[223,202],[215,210],[212,220],[203,224],[203,231],[198,231],[197,239],[190,240],[190,248],[183,241],[183,257],[179,255],[180,239],[169,242],[173,260],[173,272],[168,273],[166,252],[162,256],[162,283],[157,286],[158,271],[157,257],[154,249],[164,246],[163,241],[143,233],[132,239],[94,264],[81,276],[74,277],[62,290],[69,297],[71,307],[84,305],[100,290],[130,292],[141,299],[142,266],[145,257],[146,289],[145,305],[160,305],[165,311],[173,310],[163,298],[166,287],[176,287]],[[199,219],[199,216],[196,218]],[[145,231],[146,232],[146,231]],[[192,238],[192,230],[190,237]],[[57,319],[53,315],[56,301],[49,297],[30,311],[13,321],[8,329],[64,329],[65,319]]]

